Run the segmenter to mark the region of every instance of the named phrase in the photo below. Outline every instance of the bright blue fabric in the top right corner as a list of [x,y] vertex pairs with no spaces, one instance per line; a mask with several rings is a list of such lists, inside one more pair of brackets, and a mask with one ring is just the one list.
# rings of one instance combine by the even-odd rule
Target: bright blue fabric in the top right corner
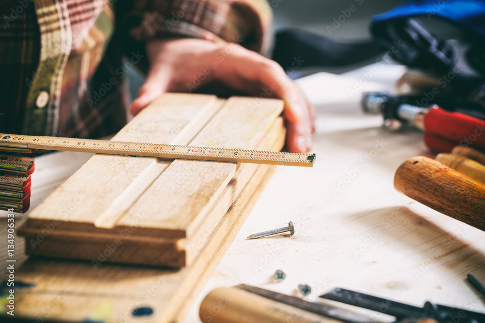
[[388,21],[413,16],[440,17],[485,37],[485,0],[408,0],[387,13],[374,16],[372,30]]

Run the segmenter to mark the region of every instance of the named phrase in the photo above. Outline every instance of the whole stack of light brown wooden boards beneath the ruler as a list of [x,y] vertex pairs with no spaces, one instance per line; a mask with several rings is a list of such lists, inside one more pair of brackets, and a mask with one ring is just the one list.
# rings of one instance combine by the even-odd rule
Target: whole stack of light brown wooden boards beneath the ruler
[[[282,108],[279,100],[164,94],[113,140],[279,150]],[[273,170],[93,156],[32,210],[22,228],[29,254],[84,261],[29,259],[16,272],[31,286],[17,289],[16,314],[100,322],[183,316]]]

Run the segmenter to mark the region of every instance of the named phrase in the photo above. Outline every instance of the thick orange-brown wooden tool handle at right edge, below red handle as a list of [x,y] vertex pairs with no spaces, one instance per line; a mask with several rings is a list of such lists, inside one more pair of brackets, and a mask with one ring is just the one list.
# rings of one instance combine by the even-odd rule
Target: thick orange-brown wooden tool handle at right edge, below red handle
[[411,199],[485,231],[485,185],[436,160],[409,158],[396,170],[394,187]]

